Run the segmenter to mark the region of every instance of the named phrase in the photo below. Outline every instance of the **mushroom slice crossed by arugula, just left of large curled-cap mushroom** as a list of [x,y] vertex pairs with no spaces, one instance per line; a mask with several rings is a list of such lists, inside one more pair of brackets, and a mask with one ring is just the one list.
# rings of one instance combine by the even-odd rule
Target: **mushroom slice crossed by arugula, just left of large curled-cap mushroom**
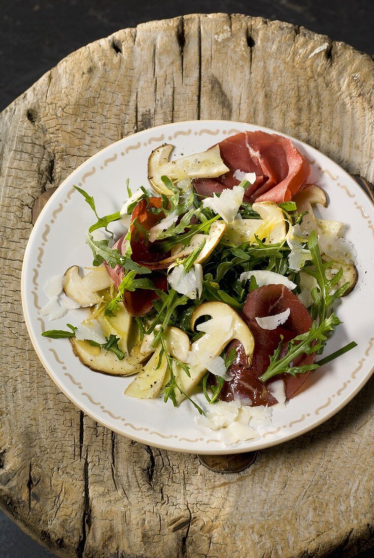
[[[190,340],[188,335],[178,328],[168,328],[165,331],[165,348],[167,352],[179,360],[185,359],[189,349]],[[125,389],[125,395],[138,397],[140,399],[152,399],[159,395],[162,386],[165,384],[167,373],[167,359],[162,355],[160,363],[161,344],[158,345],[156,352],[150,360],[133,379],[131,384]]]

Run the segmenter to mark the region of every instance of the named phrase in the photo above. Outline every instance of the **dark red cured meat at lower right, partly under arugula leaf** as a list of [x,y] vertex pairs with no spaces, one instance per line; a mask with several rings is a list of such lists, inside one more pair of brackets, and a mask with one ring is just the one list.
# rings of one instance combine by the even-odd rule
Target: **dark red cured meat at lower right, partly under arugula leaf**
[[[265,330],[257,324],[256,318],[264,318],[268,315],[279,314],[290,309],[289,318],[281,326],[273,330]],[[309,372],[298,374],[296,377],[290,374],[281,374],[271,378],[263,384],[258,378],[266,372],[270,364],[270,355],[278,347],[281,335],[284,338],[281,357],[287,350],[287,342],[301,333],[309,331],[313,320],[308,310],[301,304],[287,287],[283,285],[266,285],[250,292],[244,305],[242,316],[252,330],[255,338],[255,352],[252,364],[249,367],[243,347],[238,341],[233,341],[231,347],[236,347],[236,359],[228,373],[232,376],[224,384],[220,398],[224,401],[232,401],[234,398],[242,399],[253,406],[274,405],[276,399],[267,390],[267,387],[277,379],[282,379],[285,384],[286,398],[290,399],[305,382]],[[228,347],[228,350],[231,349]],[[294,364],[313,364],[314,354],[302,355]]]

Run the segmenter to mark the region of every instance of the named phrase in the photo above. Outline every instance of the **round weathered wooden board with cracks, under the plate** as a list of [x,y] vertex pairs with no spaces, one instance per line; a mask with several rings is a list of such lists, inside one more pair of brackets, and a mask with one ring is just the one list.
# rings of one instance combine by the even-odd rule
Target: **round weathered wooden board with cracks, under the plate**
[[74,52],[1,114],[0,504],[57,554],[349,556],[373,543],[374,381],[323,426],[218,475],[77,410],[42,369],[20,302],[35,200],[137,130],[265,124],[373,181],[373,75],[369,56],[304,28],[193,15]]

